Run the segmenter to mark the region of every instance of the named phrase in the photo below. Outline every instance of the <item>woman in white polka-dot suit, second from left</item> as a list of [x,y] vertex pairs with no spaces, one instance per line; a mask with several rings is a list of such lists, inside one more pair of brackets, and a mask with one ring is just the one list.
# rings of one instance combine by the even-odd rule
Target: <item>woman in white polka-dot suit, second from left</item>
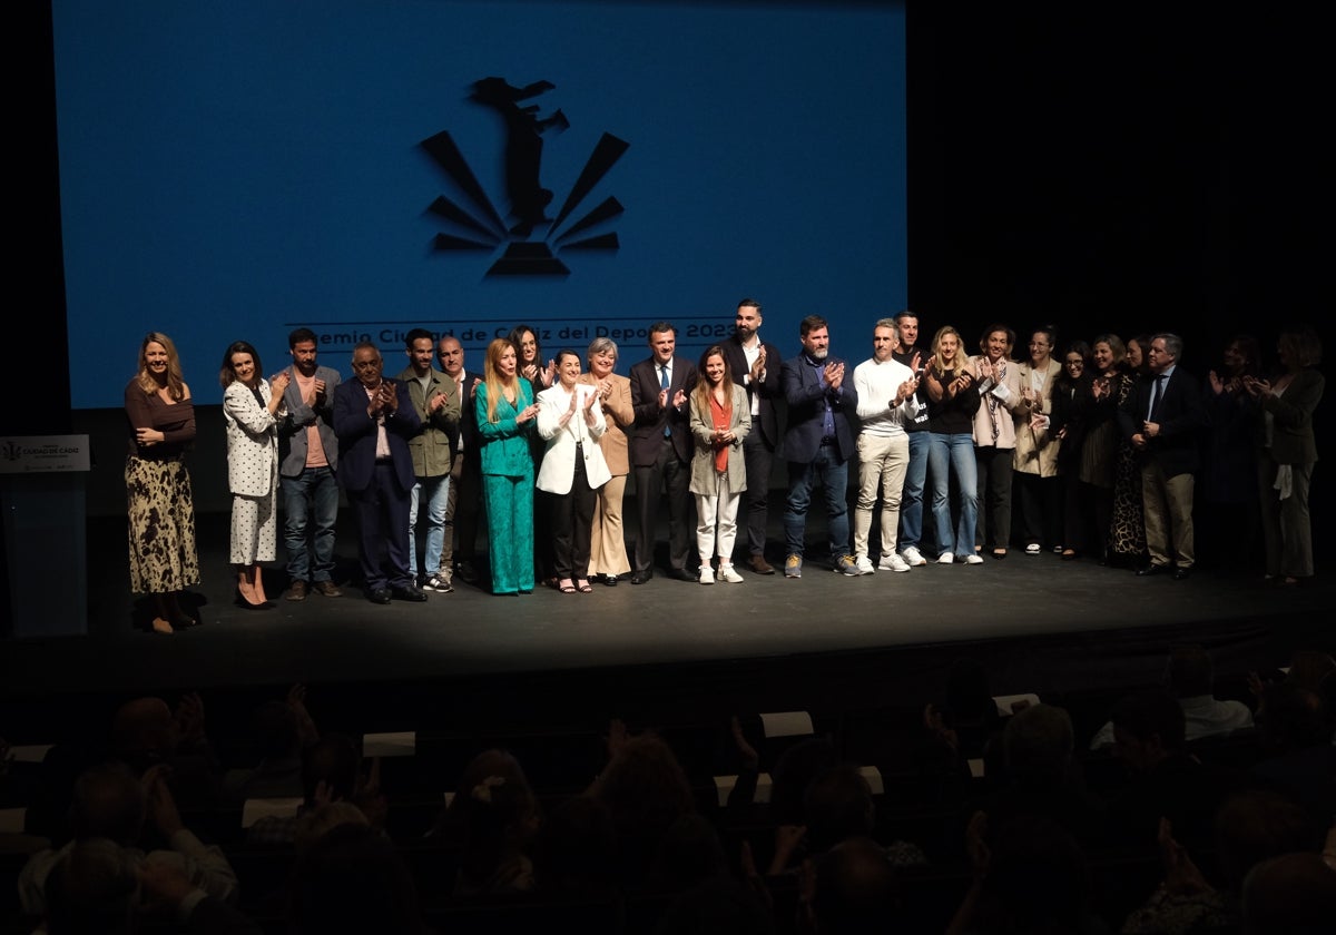
[[231,562],[238,605],[259,610],[265,597],[262,561],[274,561],[278,493],[278,418],[289,375],[274,385],[261,377],[259,354],[236,341],[223,354],[223,417],[227,421],[227,486],[232,493]]

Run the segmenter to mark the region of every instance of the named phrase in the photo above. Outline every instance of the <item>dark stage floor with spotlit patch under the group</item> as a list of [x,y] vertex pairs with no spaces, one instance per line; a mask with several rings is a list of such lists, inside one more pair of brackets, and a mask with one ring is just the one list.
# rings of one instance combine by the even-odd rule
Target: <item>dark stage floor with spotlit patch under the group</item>
[[[346,513],[341,521],[353,528]],[[266,574],[273,609],[253,612],[232,602],[227,517],[199,517],[198,538],[203,582],[190,596],[206,625],[158,636],[140,628],[147,602],[127,590],[124,520],[90,521],[90,633],[7,641],[9,700],[303,681],[453,685],[461,697],[537,689],[553,711],[576,697],[599,705],[655,692],[700,704],[758,692],[775,705],[823,692],[875,704],[941,684],[959,654],[986,659],[995,691],[1010,692],[1037,680],[1059,689],[1154,681],[1164,650],[1182,640],[1209,645],[1222,672],[1336,644],[1329,576],[1284,589],[1259,573],[1202,570],[1180,582],[1018,550],[854,578],[815,557],[796,581],[744,572],[744,584],[707,588],[660,573],[592,594],[540,586],[494,597],[457,582],[425,604],[379,606],[349,582],[357,561],[343,533],[343,597],[282,600],[281,556]]]

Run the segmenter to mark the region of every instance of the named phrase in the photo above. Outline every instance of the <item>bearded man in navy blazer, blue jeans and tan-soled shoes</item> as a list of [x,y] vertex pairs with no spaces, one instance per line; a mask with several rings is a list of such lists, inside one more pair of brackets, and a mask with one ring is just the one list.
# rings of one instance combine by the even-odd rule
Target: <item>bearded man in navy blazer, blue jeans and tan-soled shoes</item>
[[[831,561],[842,574],[858,574],[848,549],[848,459],[854,455],[850,417],[858,410],[852,370],[830,357],[830,330],[820,315],[799,325],[803,353],[784,361],[780,382],[788,401],[784,457],[788,459],[788,501],[784,508],[784,577],[803,577],[807,505],[818,484],[826,494]],[[846,379],[847,377],[847,379]]]

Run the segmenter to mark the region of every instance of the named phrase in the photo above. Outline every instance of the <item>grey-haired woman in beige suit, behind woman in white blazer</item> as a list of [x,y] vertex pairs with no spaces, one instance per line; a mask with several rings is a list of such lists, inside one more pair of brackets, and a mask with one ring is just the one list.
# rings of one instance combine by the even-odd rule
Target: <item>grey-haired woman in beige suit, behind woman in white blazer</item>
[[599,405],[608,423],[607,431],[599,438],[599,447],[603,449],[603,459],[612,474],[599,488],[599,504],[593,512],[589,580],[601,581],[611,588],[617,584],[619,576],[631,573],[627,534],[621,529],[621,500],[631,473],[627,433],[636,422],[636,413],[631,409],[631,381],[612,373],[617,366],[617,342],[612,338],[595,338],[589,342],[585,358],[589,371],[580,377],[580,382],[599,387]]

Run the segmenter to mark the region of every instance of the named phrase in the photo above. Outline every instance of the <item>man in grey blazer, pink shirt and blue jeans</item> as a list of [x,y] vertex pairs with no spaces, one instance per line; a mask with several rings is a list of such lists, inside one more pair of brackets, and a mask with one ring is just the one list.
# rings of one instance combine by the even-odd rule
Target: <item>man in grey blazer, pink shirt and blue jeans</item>
[[299,327],[287,335],[291,381],[283,391],[279,422],[279,484],[283,488],[283,545],[287,549],[287,600],[305,601],[314,588],[325,597],[334,584],[334,524],[338,520],[338,438],[334,437],[337,370],[317,365],[315,333]]

